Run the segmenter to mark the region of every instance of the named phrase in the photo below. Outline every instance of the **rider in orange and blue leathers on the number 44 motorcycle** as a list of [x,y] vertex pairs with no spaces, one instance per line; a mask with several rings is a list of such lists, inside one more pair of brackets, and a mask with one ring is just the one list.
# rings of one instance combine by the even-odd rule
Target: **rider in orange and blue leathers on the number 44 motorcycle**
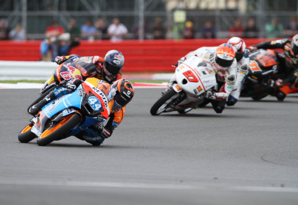
[[[77,133],[75,137],[84,140],[93,146],[99,146],[106,138],[109,138],[112,135],[115,128],[122,122],[126,104],[133,99],[135,91],[133,85],[125,79],[119,79],[112,85],[97,78],[88,78],[86,81],[97,87],[107,96],[111,112],[109,120],[105,126],[102,122],[103,116],[98,115],[98,123]],[[74,92],[82,82],[83,81],[78,79],[62,81],[56,86],[52,93],[30,107],[29,113],[35,116],[44,105]]]

